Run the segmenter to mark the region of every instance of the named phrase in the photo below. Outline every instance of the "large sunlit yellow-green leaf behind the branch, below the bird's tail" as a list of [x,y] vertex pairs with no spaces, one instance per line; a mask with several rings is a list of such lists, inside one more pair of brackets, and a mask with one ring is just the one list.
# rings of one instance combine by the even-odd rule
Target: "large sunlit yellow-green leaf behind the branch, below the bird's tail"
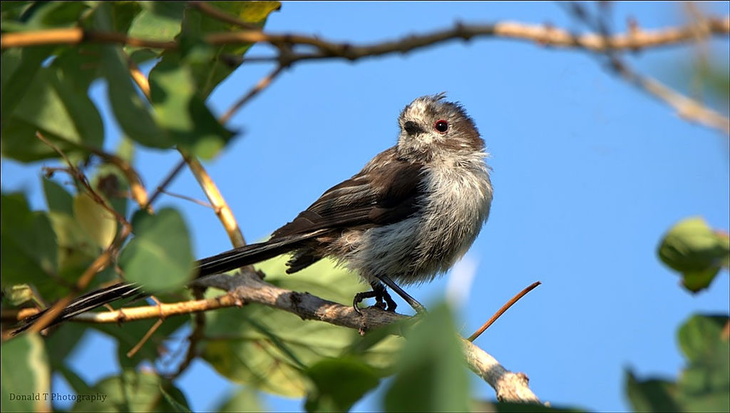
[[[257,265],[266,281],[327,300],[351,303],[353,295],[366,289],[359,277],[334,262],[322,260],[294,275],[284,273],[286,257]],[[215,296],[220,292],[211,292]],[[288,397],[302,397],[309,382],[304,368],[326,358],[352,353],[362,341],[357,331],[323,322],[304,321],[294,314],[265,306],[225,308],[208,315],[202,354],[218,373],[235,382]],[[370,334],[370,333],[369,333]],[[366,335],[366,338],[369,336]],[[391,368],[401,338],[388,337],[365,346],[358,357],[372,368]]]

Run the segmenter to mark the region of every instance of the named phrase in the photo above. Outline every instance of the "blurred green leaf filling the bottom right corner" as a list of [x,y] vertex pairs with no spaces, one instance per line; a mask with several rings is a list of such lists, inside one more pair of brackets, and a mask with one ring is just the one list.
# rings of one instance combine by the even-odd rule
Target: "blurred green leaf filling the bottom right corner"
[[730,411],[730,341],[722,335],[728,322],[727,316],[696,315],[680,327],[688,365],[678,383],[679,398],[688,411]]

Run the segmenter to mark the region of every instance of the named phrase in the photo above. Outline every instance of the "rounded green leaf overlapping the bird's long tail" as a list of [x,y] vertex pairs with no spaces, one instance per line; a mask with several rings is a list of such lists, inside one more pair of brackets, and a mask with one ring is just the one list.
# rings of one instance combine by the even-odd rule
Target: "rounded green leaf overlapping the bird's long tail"
[[132,227],[135,236],[119,257],[128,281],[156,292],[180,287],[190,279],[193,254],[180,213],[171,208],[161,209],[155,215],[138,211]]

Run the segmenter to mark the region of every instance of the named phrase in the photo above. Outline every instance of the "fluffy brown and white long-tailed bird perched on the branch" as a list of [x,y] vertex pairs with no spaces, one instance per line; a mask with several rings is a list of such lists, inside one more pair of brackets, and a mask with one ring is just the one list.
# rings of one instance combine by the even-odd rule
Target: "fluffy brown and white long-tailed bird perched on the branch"
[[[291,274],[332,257],[372,287],[353,298],[358,313],[366,298],[395,311],[397,304],[385,286],[415,311],[425,311],[400,285],[434,280],[472,246],[491,208],[491,167],[475,122],[445,93],[414,99],[401,110],[398,125],[396,144],[360,172],[332,186],[268,240],[200,259],[196,276],[226,273],[282,254],[291,254],[286,263]],[[73,300],[50,325],[115,300],[146,295],[137,284],[113,284]],[[41,316],[24,319],[15,333]]]

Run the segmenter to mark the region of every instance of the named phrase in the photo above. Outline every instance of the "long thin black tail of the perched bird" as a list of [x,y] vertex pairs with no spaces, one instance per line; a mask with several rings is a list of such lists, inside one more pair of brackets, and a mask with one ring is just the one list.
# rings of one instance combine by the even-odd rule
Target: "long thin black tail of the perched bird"
[[[255,264],[280,254],[288,253],[299,248],[302,243],[319,235],[319,232],[309,234],[292,235],[285,238],[277,238],[264,243],[255,243],[242,246],[237,249],[223,252],[212,257],[207,257],[196,262],[197,277],[209,276],[212,274],[225,273],[226,271],[241,268],[245,265]],[[73,300],[64,308],[48,327],[71,319],[78,314],[91,311],[94,308],[104,306],[118,300],[137,300],[148,297],[150,293],[144,292],[142,287],[133,283],[118,283],[110,287],[104,287]],[[13,335],[28,330],[31,325],[38,321],[47,311],[41,311],[31,317],[20,321],[20,326],[13,331]]]

